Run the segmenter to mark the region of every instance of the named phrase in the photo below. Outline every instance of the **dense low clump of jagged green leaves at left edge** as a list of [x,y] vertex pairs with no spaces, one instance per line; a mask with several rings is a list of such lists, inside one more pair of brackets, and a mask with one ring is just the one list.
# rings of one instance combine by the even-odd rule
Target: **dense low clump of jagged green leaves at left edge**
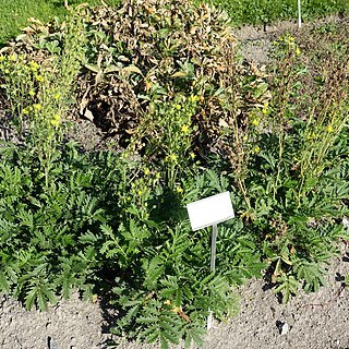
[[[74,167],[88,164],[77,158],[68,168],[69,156],[57,157],[55,176],[46,186],[33,152],[1,148],[0,210],[5,222],[1,227],[1,284],[3,291],[24,299],[27,309],[35,302],[46,309],[61,288],[64,297],[74,287],[88,292],[97,265],[96,250],[85,246],[80,237],[104,220],[101,208],[96,208],[96,198],[84,185],[71,185]],[[91,181],[87,168],[84,181]]]

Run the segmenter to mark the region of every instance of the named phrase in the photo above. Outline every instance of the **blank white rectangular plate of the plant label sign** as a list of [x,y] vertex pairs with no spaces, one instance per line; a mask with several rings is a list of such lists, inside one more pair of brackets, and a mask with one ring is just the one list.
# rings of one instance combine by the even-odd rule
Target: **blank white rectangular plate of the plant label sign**
[[194,231],[234,217],[229,192],[195,201],[186,209]]

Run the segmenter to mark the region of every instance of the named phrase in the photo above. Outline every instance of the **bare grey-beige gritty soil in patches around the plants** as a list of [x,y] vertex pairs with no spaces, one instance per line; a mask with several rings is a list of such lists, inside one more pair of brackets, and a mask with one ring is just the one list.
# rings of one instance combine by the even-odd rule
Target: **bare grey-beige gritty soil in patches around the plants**
[[[302,31],[313,25],[304,25]],[[267,27],[266,32],[262,27],[244,27],[237,36],[242,43],[242,53],[263,64],[267,62],[273,40],[282,31],[296,27],[291,22]],[[75,137],[86,148],[96,148],[104,142],[103,134],[96,131],[89,121],[81,120]],[[3,136],[4,130],[2,132]],[[349,274],[349,245],[342,242],[339,249],[340,253],[328,265],[327,286],[317,293],[301,293],[284,305],[263,280],[250,280],[238,289],[240,314],[226,324],[216,324],[203,348],[349,349],[349,289],[342,282]],[[50,306],[47,312],[27,312],[12,298],[0,294],[0,348],[106,348],[106,340],[110,338],[108,327],[112,325],[110,318],[110,312],[101,303],[86,303],[77,296]],[[120,348],[156,347],[124,342]]]

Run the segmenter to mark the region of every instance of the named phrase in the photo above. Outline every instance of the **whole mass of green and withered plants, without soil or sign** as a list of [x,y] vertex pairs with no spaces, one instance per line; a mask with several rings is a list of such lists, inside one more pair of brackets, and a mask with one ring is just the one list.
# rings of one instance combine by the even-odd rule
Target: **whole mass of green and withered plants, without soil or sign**
[[[285,302],[316,291],[348,239],[348,28],[274,47],[266,70],[243,61],[229,16],[183,0],[32,23],[0,56],[16,130],[0,148],[1,291],[41,310],[103,296],[116,334],[164,348],[200,344],[265,270]],[[76,116],[109,147],[69,140]],[[185,204],[225,190],[237,217],[210,273],[210,231],[191,231]]]

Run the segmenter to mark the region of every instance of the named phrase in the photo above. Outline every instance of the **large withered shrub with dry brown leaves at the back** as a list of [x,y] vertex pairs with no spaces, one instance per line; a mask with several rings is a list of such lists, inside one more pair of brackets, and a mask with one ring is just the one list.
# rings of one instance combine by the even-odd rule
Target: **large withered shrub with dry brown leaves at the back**
[[198,98],[192,118],[197,143],[205,152],[215,148],[229,118],[226,100],[241,98],[234,86],[244,69],[234,59],[237,40],[225,12],[186,0],[128,0],[118,11],[92,10],[87,35],[80,89],[84,112],[97,124],[128,141],[152,105],[180,93]]

